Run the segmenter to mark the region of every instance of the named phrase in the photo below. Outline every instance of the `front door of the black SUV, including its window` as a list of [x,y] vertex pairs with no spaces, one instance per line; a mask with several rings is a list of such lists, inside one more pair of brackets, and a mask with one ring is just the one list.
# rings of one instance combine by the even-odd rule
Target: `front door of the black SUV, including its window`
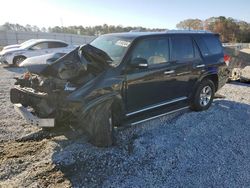
[[147,60],[148,67],[127,72],[126,107],[130,114],[176,98],[177,65],[170,61],[169,51],[168,37],[142,39],[134,46],[131,62],[135,58],[143,58]]

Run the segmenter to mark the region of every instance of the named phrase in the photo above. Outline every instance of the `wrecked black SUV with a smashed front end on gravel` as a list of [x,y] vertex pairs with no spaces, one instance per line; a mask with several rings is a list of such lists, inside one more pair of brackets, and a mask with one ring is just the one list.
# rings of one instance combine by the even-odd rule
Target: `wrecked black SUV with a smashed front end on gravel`
[[228,79],[219,35],[205,31],[103,35],[72,52],[26,59],[11,102],[31,124],[74,124],[97,146],[114,126],[210,107]]

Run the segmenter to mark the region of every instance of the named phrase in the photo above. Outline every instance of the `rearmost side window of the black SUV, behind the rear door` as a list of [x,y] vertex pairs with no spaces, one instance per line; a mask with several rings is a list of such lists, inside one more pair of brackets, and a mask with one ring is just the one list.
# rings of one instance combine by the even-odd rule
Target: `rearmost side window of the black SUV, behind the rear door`
[[222,53],[222,46],[217,36],[201,36],[196,38],[196,42],[203,56]]

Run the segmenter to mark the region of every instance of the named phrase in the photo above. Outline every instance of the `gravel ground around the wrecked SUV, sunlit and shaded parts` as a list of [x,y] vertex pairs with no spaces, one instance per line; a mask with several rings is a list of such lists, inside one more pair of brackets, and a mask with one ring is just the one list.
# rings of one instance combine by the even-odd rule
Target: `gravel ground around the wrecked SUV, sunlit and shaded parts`
[[116,132],[110,148],[77,130],[46,133],[9,102],[20,74],[0,67],[0,187],[249,187],[250,85],[225,85],[205,112],[189,110]]

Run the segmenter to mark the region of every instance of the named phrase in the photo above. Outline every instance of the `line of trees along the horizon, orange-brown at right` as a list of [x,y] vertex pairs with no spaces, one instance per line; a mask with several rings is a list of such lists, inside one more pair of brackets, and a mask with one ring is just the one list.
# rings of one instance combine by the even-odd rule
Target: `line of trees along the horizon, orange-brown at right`
[[[219,33],[222,42],[250,42],[250,23],[226,18],[224,16],[211,17],[206,20],[186,19],[176,25],[178,29],[186,30],[209,30]],[[155,28],[149,29],[145,27],[123,27],[122,25],[97,25],[97,26],[55,26],[39,28],[35,25],[20,25],[13,23],[5,23],[0,30],[10,31],[32,31],[32,32],[51,32],[51,33],[70,33],[79,35],[101,35],[106,33],[129,32],[129,31],[165,31],[167,29]]]

